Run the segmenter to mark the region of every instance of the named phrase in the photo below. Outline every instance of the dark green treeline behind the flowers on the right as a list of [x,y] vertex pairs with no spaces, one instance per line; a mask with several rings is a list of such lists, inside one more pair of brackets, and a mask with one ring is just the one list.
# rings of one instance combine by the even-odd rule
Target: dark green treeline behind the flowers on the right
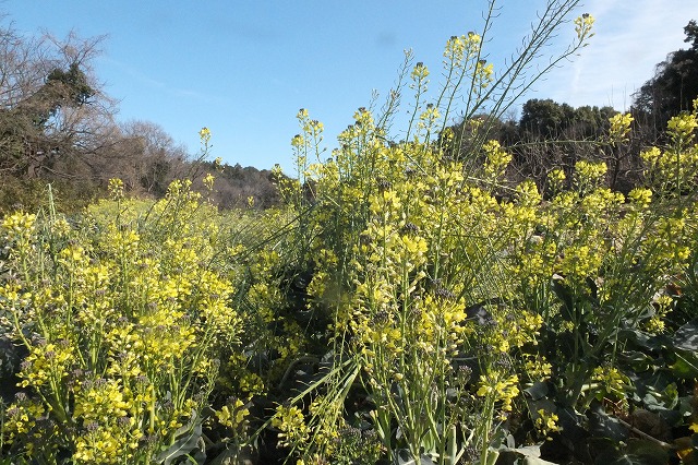
[[[642,170],[640,153],[669,141],[665,130],[669,120],[681,112],[693,110],[698,98],[698,26],[691,20],[684,28],[688,49],[667,55],[655,68],[654,76],[633,95],[628,115],[633,118],[629,141],[623,147],[603,147],[609,133],[610,118],[619,112],[612,107],[571,107],[552,99],[530,99],[524,104],[518,120],[493,119],[490,115],[460,121],[450,128],[457,141],[457,151],[447,156],[470,153],[482,141],[494,139],[513,154],[507,168],[512,184],[522,179],[534,179],[545,191],[546,176],[555,168],[567,174],[580,159],[604,162],[609,168],[606,182],[613,190],[628,192]],[[473,163],[481,163],[481,159]],[[568,182],[571,177],[567,177]]]

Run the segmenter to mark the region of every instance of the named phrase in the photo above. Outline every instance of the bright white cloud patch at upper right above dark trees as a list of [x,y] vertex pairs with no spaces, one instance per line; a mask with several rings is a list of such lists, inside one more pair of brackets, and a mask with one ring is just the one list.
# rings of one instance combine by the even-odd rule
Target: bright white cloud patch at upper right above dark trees
[[535,97],[626,109],[655,64],[688,46],[684,26],[698,20],[698,8],[687,0],[592,0],[586,10],[597,20],[590,45],[553,71]]

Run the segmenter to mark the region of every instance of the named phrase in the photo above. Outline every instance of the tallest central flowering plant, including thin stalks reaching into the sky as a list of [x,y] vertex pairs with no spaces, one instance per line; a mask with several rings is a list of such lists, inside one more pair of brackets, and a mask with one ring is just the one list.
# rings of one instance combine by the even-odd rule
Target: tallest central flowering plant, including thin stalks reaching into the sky
[[[305,431],[302,438],[288,441],[284,433],[285,444],[303,460],[337,456],[340,431],[354,424],[336,405],[357,390],[370,406],[360,419],[390,461],[492,458],[495,431],[520,392],[514,363],[502,362],[533,344],[542,323],[521,307],[515,282],[503,274],[512,243],[535,223],[541,196],[534,184],[525,183],[516,190],[519,202],[497,202],[494,193],[510,155],[480,139],[488,133],[486,121],[467,152],[461,135],[446,124],[460,98],[467,103],[466,118],[488,104],[495,115],[503,111],[512,83],[524,80],[527,87],[537,79],[524,70],[575,5],[550,2],[522,56],[500,74],[483,60],[484,34],[452,37],[444,52],[446,82],[434,102],[428,98],[429,68],[422,62],[406,67],[401,79],[411,81],[414,97],[408,100],[404,142],[386,141],[389,112],[404,88],[390,93],[386,115],[360,108],[327,162],[306,157],[318,153],[314,142],[309,144],[317,141],[317,124],[304,110],[299,114],[303,133],[293,146],[302,182],[294,189],[311,195],[293,199],[308,202],[298,226],[299,238],[312,238],[303,246],[314,272],[309,308],[333,314],[328,356],[335,361],[327,384],[311,386],[326,408],[305,416],[293,410],[293,424],[324,425],[323,433],[300,426],[296,431]],[[583,46],[592,22],[586,15],[575,23],[577,40],[559,59]],[[478,166],[479,159],[485,163]],[[488,318],[479,320],[477,312]],[[495,330],[500,325],[507,327],[505,335]],[[493,356],[481,357],[482,348],[493,348],[488,349]],[[333,388],[337,380],[346,386],[349,379],[356,384],[350,391]],[[303,394],[312,396],[311,388]],[[279,407],[275,425],[281,431],[289,430],[284,418],[291,421],[290,412]],[[336,441],[327,441],[332,431]]]

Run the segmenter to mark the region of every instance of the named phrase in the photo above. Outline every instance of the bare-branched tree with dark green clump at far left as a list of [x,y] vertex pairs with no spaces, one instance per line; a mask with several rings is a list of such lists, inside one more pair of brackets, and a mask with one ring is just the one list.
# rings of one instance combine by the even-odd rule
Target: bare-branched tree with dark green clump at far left
[[0,28],[0,174],[75,177],[109,143],[116,106],[92,68],[103,39]]

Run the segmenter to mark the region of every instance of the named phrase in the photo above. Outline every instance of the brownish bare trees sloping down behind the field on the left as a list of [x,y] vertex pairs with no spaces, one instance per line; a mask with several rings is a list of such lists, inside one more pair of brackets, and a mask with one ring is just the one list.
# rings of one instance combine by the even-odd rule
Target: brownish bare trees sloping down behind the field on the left
[[101,38],[24,37],[0,27],[0,214],[33,210],[50,183],[76,210],[122,179],[133,195],[161,198],[177,178],[216,176],[221,207],[278,202],[270,170],[206,163],[149,121],[120,122],[93,70]]

